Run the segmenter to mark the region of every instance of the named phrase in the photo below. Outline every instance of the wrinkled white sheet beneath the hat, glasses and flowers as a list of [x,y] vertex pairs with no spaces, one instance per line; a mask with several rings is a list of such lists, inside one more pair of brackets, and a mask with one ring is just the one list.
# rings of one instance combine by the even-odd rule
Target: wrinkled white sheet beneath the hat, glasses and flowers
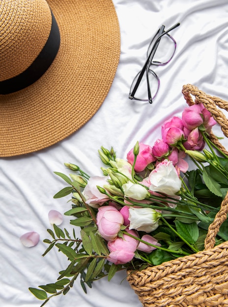
[[[0,306],[39,307],[28,287],[55,282],[67,259],[47,248],[43,239],[51,228],[48,212],[70,208],[67,198],[54,200],[64,187],[54,171],[66,172],[64,162],[80,165],[91,175],[101,174],[97,150],[114,149],[119,157],[137,140],[153,145],[162,123],[179,116],[186,102],[182,86],[194,84],[228,101],[228,0],[114,0],[121,30],[121,55],[112,88],[95,116],[83,128],[48,149],[0,159]],[[134,76],[142,68],[148,43],[157,29],[180,22],[172,31],[176,53],[164,67],[155,67],[161,87],[152,105],[128,99]],[[91,88],[92,94],[92,88]],[[219,130],[218,130],[219,131]],[[226,144],[226,140],[224,141]],[[61,227],[68,226],[64,217]],[[37,231],[40,242],[24,247],[19,237]],[[94,282],[85,294],[78,282],[49,307],[140,307],[124,273],[112,281]],[[123,281],[122,281],[123,280]],[[122,283],[121,283],[122,281]],[[120,284],[121,283],[121,284]]]

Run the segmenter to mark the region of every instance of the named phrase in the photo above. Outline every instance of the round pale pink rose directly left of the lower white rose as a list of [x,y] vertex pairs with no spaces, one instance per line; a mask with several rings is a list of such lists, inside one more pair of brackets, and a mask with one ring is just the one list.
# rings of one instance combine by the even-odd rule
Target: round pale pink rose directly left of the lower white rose
[[98,231],[105,240],[114,240],[122,225],[123,216],[114,206],[107,205],[98,208]]

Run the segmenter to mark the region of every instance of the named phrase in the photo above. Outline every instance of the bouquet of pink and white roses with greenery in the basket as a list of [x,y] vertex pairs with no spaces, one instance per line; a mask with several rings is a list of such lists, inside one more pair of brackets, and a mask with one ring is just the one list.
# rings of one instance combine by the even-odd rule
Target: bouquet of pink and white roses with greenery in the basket
[[[126,160],[114,149],[98,151],[105,167],[90,177],[79,166],[65,163],[69,176],[56,172],[67,186],[54,198],[71,194],[70,234],[54,224],[46,255],[54,246],[69,260],[55,283],[29,288],[44,306],[66,294],[80,278],[86,286],[119,270],[142,270],[204,248],[208,226],[228,192],[228,156],[210,140],[216,124],[201,104],[188,106],[182,117],[162,125],[153,146],[137,142]],[[189,163],[195,167],[189,170]],[[216,244],[228,240],[225,222]]]

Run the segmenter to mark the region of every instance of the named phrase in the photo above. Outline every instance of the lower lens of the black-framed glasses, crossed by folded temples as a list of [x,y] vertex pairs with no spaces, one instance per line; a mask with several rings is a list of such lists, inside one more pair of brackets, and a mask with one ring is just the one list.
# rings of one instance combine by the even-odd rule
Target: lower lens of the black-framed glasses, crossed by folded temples
[[[138,75],[134,78],[132,85],[131,85],[131,89],[130,89],[130,94],[133,92],[136,82],[138,80],[138,77],[140,75],[141,72],[138,73]],[[148,81],[147,81],[148,80]],[[158,78],[158,76],[152,71],[152,70],[148,70],[148,75],[146,74],[146,72],[144,73],[142,80],[135,92],[134,95],[134,99],[136,100],[141,100],[141,101],[148,101],[148,85],[150,88],[150,92],[151,92],[151,98],[153,99],[158,92],[159,89],[159,85],[160,85],[160,80]]]

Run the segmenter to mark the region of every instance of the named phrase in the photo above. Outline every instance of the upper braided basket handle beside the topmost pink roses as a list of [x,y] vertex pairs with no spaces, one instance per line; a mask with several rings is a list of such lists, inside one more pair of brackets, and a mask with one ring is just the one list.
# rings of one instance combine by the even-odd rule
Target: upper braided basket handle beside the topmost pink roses
[[[183,85],[182,93],[188,105],[193,105],[195,103],[202,103],[204,107],[210,111],[214,120],[220,125],[221,130],[224,135],[228,137],[228,120],[224,113],[220,109],[224,109],[228,111],[228,102],[222,100],[215,96],[210,96],[200,91],[196,86],[192,84]],[[192,96],[195,96],[195,102],[192,99]],[[220,108],[218,109],[217,106]],[[209,135],[210,140],[225,154],[228,155],[225,147],[218,141],[218,138],[213,134],[213,132]]]

